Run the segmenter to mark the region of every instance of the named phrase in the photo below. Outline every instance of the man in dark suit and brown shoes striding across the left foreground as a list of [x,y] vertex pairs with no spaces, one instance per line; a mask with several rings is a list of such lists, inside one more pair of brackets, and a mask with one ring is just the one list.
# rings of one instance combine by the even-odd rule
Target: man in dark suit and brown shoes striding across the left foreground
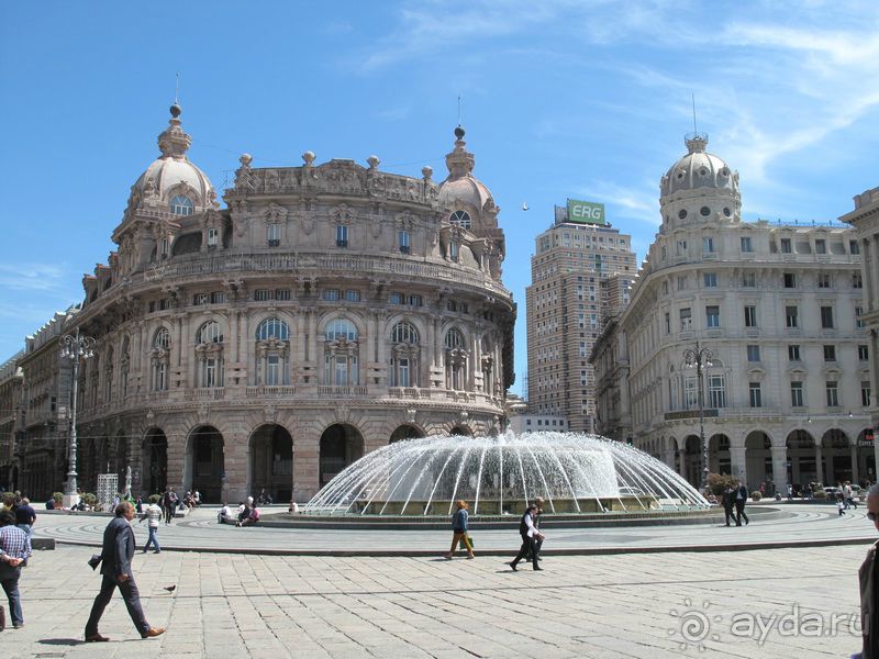
[[151,627],[141,606],[141,593],[134,583],[134,573],[131,569],[131,559],[134,557],[134,530],[131,521],[134,520],[134,506],[129,501],[123,501],[115,507],[116,516],[103,532],[103,548],[101,550],[101,592],[94,597],[89,622],[86,623],[86,643],[110,640],[98,634],[98,623],[103,615],[103,610],[113,597],[113,591],[119,587],[129,615],[141,638],[153,638],[165,633],[164,627]]

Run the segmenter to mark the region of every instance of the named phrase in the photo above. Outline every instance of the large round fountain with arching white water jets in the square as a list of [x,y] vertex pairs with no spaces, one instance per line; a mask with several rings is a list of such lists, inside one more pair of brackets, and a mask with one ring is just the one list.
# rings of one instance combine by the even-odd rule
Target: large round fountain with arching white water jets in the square
[[330,481],[302,510],[311,516],[518,515],[543,496],[564,515],[704,511],[708,501],[647,454],[598,435],[508,433],[430,436],[385,446]]

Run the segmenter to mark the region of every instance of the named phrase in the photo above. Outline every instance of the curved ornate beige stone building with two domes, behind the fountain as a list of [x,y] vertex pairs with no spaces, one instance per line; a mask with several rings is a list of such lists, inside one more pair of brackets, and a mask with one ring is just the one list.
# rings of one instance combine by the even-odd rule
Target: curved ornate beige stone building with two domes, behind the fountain
[[179,114],[66,327],[97,339],[80,487],[113,455],[136,492],[303,501],[390,442],[502,429],[515,305],[460,127],[442,182],[375,156],[260,169],[245,154],[221,209]]

